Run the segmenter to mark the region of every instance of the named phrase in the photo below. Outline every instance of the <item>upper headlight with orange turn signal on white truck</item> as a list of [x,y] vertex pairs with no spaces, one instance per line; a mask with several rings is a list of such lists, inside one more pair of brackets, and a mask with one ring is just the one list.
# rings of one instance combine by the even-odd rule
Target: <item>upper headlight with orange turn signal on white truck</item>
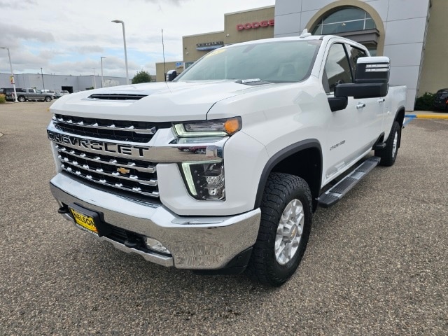
[[175,124],[178,137],[225,137],[241,130],[241,118],[192,121]]

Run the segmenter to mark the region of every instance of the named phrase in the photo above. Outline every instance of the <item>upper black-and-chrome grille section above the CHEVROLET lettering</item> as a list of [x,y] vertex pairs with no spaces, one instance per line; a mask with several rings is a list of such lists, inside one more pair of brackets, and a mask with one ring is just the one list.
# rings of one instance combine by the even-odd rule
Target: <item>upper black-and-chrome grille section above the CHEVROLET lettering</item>
[[80,118],[60,114],[52,117],[52,123],[58,130],[83,137],[139,143],[150,141],[159,128],[171,127],[171,123]]

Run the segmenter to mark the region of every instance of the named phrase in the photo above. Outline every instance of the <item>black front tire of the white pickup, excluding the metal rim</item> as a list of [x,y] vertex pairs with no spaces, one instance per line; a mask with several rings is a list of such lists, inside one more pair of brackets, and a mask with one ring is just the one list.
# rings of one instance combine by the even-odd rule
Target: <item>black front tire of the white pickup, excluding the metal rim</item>
[[[294,253],[291,253],[289,260],[286,258],[287,261],[281,262],[283,260],[279,260],[279,255],[276,255],[275,251],[276,238],[283,242],[280,237],[284,238],[285,233],[277,235],[277,230],[281,225],[283,211],[286,212],[286,207],[291,204],[290,202],[298,204],[297,200],[302,205],[300,214],[303,216],[303,222],[300,221],[302,235],[298,238],[298,245],[294,247]],[[268,286],[281,286],[294,274],[302,260],[305,248],[307,248],[311,230],[311,204],[311,191],[303,179],[281,173],[269,175],[262,195],[260,230],[246,269],[246,273],[251,279]],[[281,228],[283,228],[283,224]],[[293,235],[296,237],[297,232],[300,232],[300,228],[288,233],[288,238]]]

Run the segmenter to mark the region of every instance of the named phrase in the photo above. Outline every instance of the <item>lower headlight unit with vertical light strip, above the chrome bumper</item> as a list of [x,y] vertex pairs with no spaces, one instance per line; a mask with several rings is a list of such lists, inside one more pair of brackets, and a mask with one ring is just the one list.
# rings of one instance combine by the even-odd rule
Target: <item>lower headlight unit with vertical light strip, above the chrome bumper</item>
[[180,165],[188,193],[196,200],[225,200],[224,162],[183,162]]

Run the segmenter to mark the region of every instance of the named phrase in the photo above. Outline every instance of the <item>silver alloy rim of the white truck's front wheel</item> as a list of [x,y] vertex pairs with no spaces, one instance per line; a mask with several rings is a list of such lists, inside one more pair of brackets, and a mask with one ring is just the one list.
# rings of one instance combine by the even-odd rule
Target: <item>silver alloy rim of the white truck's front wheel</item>
[[303,205],[294,199],[283,210],[275,236],[275,258],[280,265],[285,265],[294,258],[302,238],[303,226]]

